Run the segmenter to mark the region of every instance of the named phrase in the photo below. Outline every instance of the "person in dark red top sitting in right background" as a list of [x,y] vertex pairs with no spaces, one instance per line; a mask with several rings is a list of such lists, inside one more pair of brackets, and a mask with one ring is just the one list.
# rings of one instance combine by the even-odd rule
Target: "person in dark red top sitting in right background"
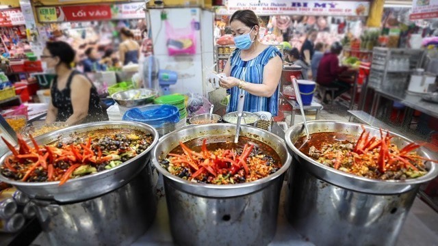
[[[342,51],[342,44],[340,42],[334,42],[331,45],[330,52],[325,53],[321,58],[320,66],[318,66],[318,77],[316,77],[316,83],[325,87],[335,87],[338,90],[335,92],[335,98],[344,92],[350,90],[350,83],[339,80],[339,75],[342,72],[348,70],[346,66],[339,66],[338,55]],[[324,101],[331,100],[330,95],[326,94]]]

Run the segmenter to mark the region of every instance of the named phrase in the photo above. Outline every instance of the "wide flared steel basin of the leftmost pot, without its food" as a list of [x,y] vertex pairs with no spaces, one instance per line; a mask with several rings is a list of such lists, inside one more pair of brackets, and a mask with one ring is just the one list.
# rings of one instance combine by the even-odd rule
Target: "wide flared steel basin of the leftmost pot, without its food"
[[[99,129],[133,129],[143,133],[150,133],[154,140],[151,146],[138,156],[126,161],[109,170],[74,178],[68,180],[65,184],[59,185],[59,182],[21,182],[11,180],[0,174],[0,180],[14,185],[23,193],[29,195],[31,198],[39,200],[55,200],[57,202],[75,202],[81,200],[88,200],[92,197],[102,195],[104,193],[114,191],[119,187],[127,184],[134,174],[137,174],[140,169],[150,159],[150,151],[158,141],[157,131],[146,124],[139,122],[92,122],[87,124],[80,124],[77,126],[70,126],[53,133],[47,133],[36,137],[38,144],[47,144],[57,141],[64,137],[69,137],[72,133],[86,133],[89,131],[99,131]],[[30,142],[29,142],[30,144]],[[6,156],[11,152],[7,152],[0,158],[0,163],[3,165]]]

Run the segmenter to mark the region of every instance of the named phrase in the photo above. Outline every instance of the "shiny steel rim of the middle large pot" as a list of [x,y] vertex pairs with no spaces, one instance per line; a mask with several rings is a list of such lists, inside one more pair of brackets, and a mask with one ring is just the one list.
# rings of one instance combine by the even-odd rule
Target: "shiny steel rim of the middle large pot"
[[[178,132],[184,131],[187,128],[191,128],[191,127],[196,127],[196,126],[230,126],[231,128],[235,128],[235,124],[229,124],[229,123],[214,123],[214,124],[202,124],[202,125],[190,125],[190,126],[185,126],[183,128],[179,128],[176,131],[173,131],[172,133],[168,133],[167,135],[164,135],[163,137],[161,137],[159,139],[159,142],[161,141],[165,141],[166,138],[168,138],[170,135],[172,134],[176,134]],[[264,131],[261,130],[260,128],[254,127],[254,126],[248,126],[248,125],[242,125],[242,130],[241,133],[245,132],[245,128],[255,128],[259,131]],[[268,131],[265,131],[267,133],[269,133]],[[279,140],[279,141],[283,141],[283,139],[281,139],[281,137],[278,137],[272,133],[270,133],[272,135],[272,137],[274,137],[275,139]],[[194,138],[196,139],[196,138]],[[287,149],[287,146],[284,146]],[[193,188],[203,188],[203,189],[216,189],[216,190],[230,190],[230,189],[242,189],[242,188],[246,188],[246,187],[253,187],[253,186],[257,186],[260,184],[264,184],[269,182],[270,180],[274,180],[277,177],[281,176],[281,174],[283,174],[284,172],[287,171],[287,169],[289,168],[289,165],[292,161],[292,158],[289,154],[287,154],[287,158],[286,161],[283,163],[283,166],[276,172],[274,172],[274,174],[270,174],[269,176],[265,177],[265,178],[261,178],[259,180],[255,180],[253,182],[245,182],[242,184],[203,184],[203,183],[198,183],[198,182],[190,182],[188,180],[184,180],[183,178],[179,178],[178,176],[175,176],[173,174],[170,174],[170,172],[168,172],[168,170],[164,169],[159,162],[157,161],[158,156],[156,153],[156,148],[155,150],[152,151],[151,153],[151,159],[153,164],[155,165],[155,168],[157,168],[159,170],[159,172],[161,174],[163,174],[164,176],[166,176],[166,178],[169,178],[170,180],[173,180],[175,182],[178,182],[180,184],[184,184],[187,185],[189,187],[193,187]],[[168,154],[168,153],[166,153]]]

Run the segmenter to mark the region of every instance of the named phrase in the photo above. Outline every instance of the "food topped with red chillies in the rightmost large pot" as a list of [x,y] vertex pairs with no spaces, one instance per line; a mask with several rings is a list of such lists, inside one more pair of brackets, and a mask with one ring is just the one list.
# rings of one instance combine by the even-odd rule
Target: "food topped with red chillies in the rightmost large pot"
[[378,180],[405,180],[424,176],[428,170],[410,143],[399,149],[391,143],[392,136],[381,130],[381,139],[363,132],[358,140],[344,133],[313,133],[310,139],[301,137],[295,146],[311,159],[349,174]]

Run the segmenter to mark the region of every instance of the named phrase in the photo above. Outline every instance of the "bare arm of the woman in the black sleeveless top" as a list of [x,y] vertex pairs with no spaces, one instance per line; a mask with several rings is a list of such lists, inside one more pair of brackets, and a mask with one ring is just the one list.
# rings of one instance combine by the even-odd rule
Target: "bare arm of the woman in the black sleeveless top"
[[83,75],[76,75],[70,85],[70,98],[73,106],[73,114],[66,120],[66,124],[79,124],[88,115],[90,102],[90,81]]

